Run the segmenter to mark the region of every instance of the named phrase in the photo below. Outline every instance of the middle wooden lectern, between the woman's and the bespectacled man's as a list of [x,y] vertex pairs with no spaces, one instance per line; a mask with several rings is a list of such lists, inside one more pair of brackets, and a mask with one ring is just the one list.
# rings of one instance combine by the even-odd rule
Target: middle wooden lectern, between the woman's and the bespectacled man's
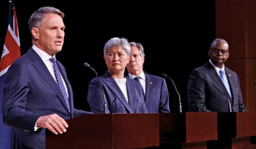
[[159,116],[160,146],[205,148],[217,140],[217,112],[163,113]]

